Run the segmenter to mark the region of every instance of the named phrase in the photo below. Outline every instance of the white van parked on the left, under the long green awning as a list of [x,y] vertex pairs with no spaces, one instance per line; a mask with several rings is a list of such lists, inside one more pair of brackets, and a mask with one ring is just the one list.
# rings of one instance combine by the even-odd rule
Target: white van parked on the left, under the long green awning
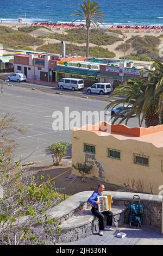
[[77,78],[61,78],[58,82],[60,89],[80,90],[84,88],[84,81]]

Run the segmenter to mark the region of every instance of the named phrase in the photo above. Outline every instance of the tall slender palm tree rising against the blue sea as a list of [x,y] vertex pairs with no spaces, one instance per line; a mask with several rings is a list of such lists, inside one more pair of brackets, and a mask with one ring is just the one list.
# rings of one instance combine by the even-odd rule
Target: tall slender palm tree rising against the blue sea
[[76,9],[75,11],[78,13],[75,13],[74,15],[79,16],[81,18],[80,21],[85,20],[86,22],[86,57],[89,57],[89,35],[91,23],[94,27],[99,27],[99,23],[102,24],[104,22],[104,13],[95,1],[91,2],[90,0],[83,0],[83,4],[79,3],[79,7],[80,10]]

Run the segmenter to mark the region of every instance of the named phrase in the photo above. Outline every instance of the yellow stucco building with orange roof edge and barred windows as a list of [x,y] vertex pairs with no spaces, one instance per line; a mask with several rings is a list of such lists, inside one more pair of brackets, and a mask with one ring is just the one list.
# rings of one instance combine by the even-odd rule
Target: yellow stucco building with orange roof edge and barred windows
[[[93,165],[88,176],[158,194],[163,186],[163,125],[129,128],[101,122],[74,129],[72,163],[77,162]],[[72,173],[79,175],[76,169]]]

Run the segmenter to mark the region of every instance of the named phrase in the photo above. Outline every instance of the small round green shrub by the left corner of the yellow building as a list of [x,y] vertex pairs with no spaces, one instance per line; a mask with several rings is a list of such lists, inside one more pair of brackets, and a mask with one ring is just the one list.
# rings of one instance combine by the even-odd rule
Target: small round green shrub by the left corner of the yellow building
[[54,166],[59,166],[62,158],[66,155],[68,150],[68,142],[58,142],[50,145],[49,150],[52,154]]

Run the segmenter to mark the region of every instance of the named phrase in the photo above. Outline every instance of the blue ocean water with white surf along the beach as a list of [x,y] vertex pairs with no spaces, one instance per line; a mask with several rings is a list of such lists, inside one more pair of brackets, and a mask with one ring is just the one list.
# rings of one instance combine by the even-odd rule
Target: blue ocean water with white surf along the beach
[[[108,25],[163,25],[163,0],[96,0]],[[0,0],[2,22],[71,22],[82,0]],[[26,13],[26,19],[24,18]]]

